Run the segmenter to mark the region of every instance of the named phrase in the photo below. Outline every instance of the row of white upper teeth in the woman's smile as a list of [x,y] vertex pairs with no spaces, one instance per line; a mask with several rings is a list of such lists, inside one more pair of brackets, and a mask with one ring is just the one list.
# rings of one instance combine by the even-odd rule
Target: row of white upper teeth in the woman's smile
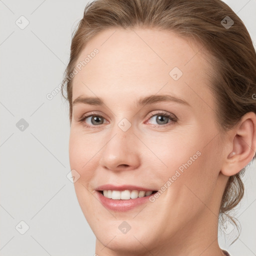
[[152,193],[153,191],[138,191],[138,190],[123,190],[123,191],[118,191],[118,190],[103,190],[103,195],[107,198],[110,199],[123,199],[123,200],[128,200],[128,199],[135,199],[137,197],[143,197],[143,196],[148,196]]

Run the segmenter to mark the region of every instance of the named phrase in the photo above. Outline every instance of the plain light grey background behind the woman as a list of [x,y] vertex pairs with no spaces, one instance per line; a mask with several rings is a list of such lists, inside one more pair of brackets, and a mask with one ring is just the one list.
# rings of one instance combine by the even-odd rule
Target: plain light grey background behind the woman
[[[61,82],[71,32],[88,1],[0,0],[0,255],[93,255],[95,237],[76,199],[69,172],[67,103],[47,93]],[[225,0],[256,42],[256,0]],[[26,20],[29,21],[24,28]],[[22,19],[22,21],[20,21]],[[255,43],[254,43],[255,45]],[[16,123],[25,119],[23,131]],[[22,121],[21,121],[22,122]],[[20,124],[22,125],[22,123]],[[20,126],[22,128],[22,126]],[[256,174],[219,243],[232,256],[256,255]],[[25,231],[23,220],[29,229]]]

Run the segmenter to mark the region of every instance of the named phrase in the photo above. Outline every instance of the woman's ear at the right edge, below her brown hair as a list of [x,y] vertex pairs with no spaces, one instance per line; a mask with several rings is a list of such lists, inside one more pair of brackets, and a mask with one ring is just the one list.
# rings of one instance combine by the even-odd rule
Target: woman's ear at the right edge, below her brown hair
[[231,176],[239,172],[253,158],[256,149],[256,114],[247,112],[229,133],[229,140],[221,172]]

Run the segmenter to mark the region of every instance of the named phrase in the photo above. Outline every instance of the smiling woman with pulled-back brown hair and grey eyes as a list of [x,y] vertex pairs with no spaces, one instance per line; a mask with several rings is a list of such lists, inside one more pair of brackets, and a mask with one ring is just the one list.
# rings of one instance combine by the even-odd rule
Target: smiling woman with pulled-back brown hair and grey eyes
[[229,255],[218,219],[254,158],[255,83],[250,36],[220,0],[86,5],[62,89],[97,255]]

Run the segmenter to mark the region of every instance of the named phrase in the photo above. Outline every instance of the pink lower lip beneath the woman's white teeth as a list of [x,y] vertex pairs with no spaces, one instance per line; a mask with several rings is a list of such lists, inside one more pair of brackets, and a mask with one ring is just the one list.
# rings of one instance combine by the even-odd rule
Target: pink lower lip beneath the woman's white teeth
[[135,199],[110,199],[105,197],[101,192],[96,191],[98,194],[98,198],[103,206],[110,210],[114,211],[127,211],[130,209],[135,208],[136,206],[139,206],[147,201],[149,201],[149,197],[152,195],[147,195],[143,197],[137,197]]

